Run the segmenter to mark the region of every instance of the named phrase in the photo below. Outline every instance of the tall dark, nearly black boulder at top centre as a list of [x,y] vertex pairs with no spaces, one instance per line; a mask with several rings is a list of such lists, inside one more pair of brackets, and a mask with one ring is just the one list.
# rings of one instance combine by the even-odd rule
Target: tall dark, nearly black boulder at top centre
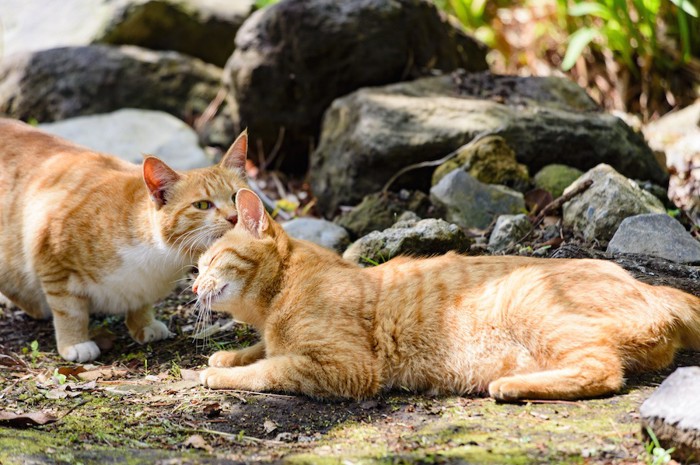
[[425,0],[283,0],[245,22],[226,69],[251,137],[266,151],[279,139],[278,160],[303,170],[336,97],[430,68],[483,70],[485,52]]

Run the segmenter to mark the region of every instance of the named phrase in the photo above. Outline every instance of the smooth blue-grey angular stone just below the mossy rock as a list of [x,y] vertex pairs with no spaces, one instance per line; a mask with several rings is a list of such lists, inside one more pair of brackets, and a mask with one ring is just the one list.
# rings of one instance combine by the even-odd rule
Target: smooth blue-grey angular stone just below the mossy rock
[[462,170],[454,170],[430,189],[433,204],[445,219],[463,228],[485,229],[501,214],[525,211],[523,194],[505,186],[483,184]]

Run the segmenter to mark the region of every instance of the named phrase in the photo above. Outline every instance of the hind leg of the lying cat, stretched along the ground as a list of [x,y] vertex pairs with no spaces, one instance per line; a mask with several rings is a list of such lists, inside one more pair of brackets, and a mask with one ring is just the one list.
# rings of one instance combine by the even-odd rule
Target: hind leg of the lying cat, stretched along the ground
[[617,355],[590,354],[565,368],[499,378],[489,384],[489,394],[502,401],[596,397],[618,391],[623,373]]

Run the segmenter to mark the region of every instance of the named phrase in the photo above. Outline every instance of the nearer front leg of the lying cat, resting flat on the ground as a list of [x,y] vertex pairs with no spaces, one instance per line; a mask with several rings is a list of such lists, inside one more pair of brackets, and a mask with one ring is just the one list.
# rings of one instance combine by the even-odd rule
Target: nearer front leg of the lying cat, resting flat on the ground
[[199,380],[212,389],[297,392],[320,397],[329,394],[319,386],[319,376],[323,373],[307,357],[285,355],[258,360],[252,365],[207,368]]

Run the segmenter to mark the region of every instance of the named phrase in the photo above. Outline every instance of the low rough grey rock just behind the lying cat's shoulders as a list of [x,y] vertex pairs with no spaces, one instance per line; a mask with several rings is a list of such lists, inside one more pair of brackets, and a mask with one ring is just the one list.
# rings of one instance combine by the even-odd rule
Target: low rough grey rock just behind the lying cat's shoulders
[[397,222],[384,231],[374,231],[355,241],[343,258],[370,265],[383,263],[398,255],[437,255],[456,250],[466,252],[472,241],[454,224],[429,218]]

